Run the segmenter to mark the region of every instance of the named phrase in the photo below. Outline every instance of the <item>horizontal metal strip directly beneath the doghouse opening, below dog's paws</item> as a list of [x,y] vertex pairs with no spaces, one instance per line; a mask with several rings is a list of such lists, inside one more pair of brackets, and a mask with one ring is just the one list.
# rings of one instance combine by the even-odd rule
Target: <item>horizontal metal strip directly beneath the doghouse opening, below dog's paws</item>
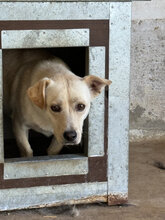
[[88,173],[88,158],[79,155],[37,157],[30,160],[7,160],[4,164],[5,179],[45,176],[66,176]]

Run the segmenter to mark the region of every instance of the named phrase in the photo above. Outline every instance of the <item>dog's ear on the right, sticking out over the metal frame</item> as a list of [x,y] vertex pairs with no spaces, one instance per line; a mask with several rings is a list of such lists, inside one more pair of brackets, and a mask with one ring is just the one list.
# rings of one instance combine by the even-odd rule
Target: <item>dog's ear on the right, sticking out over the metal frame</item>
[[105,86],[109,86],[112,83],[111,80],[102,79],[100,77],[92,75],[85,76],[84,80],[91,91],[92,98],[99,95]]

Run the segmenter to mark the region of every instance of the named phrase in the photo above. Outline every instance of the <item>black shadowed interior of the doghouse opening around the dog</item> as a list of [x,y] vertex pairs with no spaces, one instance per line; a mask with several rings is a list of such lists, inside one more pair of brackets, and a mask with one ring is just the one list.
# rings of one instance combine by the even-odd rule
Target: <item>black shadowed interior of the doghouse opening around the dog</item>
[[[84,77],[88,70],[87,62],[87,47],[60,47],[60,48],[44,48],[56,57],[61,58],[71,69],[71,71],[80,76]],[[2,50],[2,65],[3,69],[5,68],[3,63],[4,51]],[[11,51],[11,49],[7,49]],[[14,49],[12,49],[13,51]],[[20,49],[21,50],[21,49]],[[29,50],[29,49],[28,49]],[[33,49],[30,49],[33,50]],[[9,61],[10,62],[10,61]],[[9,115],[3,112],[3,132],[4,132],[4,157],[5,159],[9,158],[18,158],[20,157],[19,149],[17,147],[15,137],[12,130],[12,120]],[[87,153],[87,139],[88,139],[88,126],[87,119],[84,123],[82,134],[82,141],[78,146],[64,146],[60,154],[83,154]],[[46,156],[47,148],[50,145],[52,137],[46,137],[41,133],[38,133],[34,130],[29,132],[29,143],[33,149],[34,156]],[[33,158],[34,159],[34,158]]]

